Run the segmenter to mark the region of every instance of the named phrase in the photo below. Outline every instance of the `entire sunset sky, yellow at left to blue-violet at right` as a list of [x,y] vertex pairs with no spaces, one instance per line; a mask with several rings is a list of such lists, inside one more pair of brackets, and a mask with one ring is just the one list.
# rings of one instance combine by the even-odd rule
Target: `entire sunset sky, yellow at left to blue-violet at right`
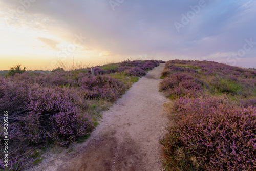
[[0,70],[209,60],[256,68],[253,0],[0,0]]

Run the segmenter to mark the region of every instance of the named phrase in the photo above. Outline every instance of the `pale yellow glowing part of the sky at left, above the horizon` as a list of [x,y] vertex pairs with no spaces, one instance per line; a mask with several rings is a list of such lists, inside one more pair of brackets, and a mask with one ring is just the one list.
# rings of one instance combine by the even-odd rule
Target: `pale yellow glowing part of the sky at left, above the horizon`
[[70,32],[58,20],[26,12],[14,16],[15,9],[6,7],[0,2],[0,70],[9,70],[16,64],[32,70],[51,70],[57,60],[75,59],[75,63],[84,65],[120,61],[111,58],[108,51],[84,46],[83,35]]

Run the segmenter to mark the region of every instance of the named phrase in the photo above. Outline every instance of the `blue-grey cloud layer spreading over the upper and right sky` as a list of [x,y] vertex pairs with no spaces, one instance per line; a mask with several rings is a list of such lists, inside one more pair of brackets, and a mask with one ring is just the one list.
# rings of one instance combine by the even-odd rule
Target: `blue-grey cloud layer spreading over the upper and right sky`
[[[12,11],[22,6],[19,0],[2,2]],[[28,25],[30,20],[40,23],[38,29],[63,41],[73,42],[74,35],[81,33],[87,37],[83,47],[116,56],[203,60],[217,53],[237,52],[246,38],[256,41],[255,1],[204,2],[205,7],[180,32],[174,23],[181,23],[182,14],[187,16],[199,1],[124,0],[113,10],[108,0],[45,0],[30,3],[21,17],[26,17],[23,20]],[[38,40],[56,48],[54,40]],[[256,57],[255,52],[256,46],[246,57]]]

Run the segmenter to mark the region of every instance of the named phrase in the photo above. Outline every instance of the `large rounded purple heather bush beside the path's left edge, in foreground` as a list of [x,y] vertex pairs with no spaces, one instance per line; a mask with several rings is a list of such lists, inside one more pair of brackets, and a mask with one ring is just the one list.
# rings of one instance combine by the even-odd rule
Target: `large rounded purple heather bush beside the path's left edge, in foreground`
[[[86,108],[84,106],[86,104],[79,95],[71,93],[70,90],[36,89],[30,91],[27,98],[25,109],[29,114],[20,120],[27,122],[30,118],[31,121],[34,121],[31,126],[40,129],[36,132],[37,135],[28,134],[29,130],[34,129],[25,131],[31,142],[38,143],[48,134],[56,143],[68,146],[77,137],[88,134],[92,129],[89,117],[84,115],[81,118],[79,115],[79,108]],[[25,125],[29,125],[29,123]]]

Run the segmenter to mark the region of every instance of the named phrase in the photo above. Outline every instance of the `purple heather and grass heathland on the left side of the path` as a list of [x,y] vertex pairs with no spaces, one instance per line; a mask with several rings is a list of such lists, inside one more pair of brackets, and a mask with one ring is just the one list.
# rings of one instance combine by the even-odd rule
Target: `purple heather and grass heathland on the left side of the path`
[[[12,68],[0,78],[1,114],[8,111],[8,168],[24,170],[39,163],[52,146],[68,147],[90,135],[108,110],[147,70],[162,61],[124,61],[91,69],[25,72]],[[15,74],[15,71],[20,71]],[[4,148],[1,116],[1,149]],[[0,166],[5,167],[1,150]]]

